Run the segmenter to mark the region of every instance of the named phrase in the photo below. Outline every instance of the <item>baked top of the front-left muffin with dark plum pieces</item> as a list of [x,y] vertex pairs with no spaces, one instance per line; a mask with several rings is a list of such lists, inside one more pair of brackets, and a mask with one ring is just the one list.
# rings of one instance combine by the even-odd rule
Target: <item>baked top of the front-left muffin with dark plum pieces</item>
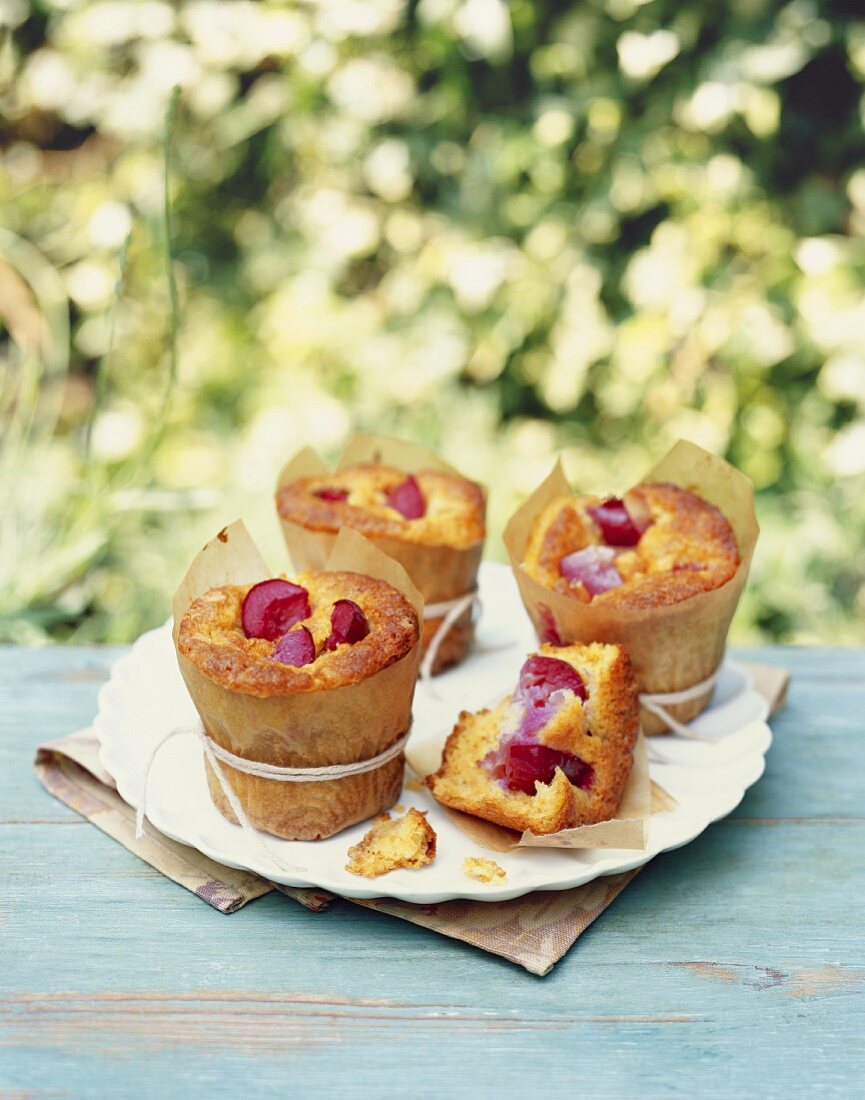
[[[283,617],[283,630],[272,614],[267,619],[275,606],[272,598],[270,605],[266,598],[258,601],[259,622],[265,626],[252,630],[270,637],[251,637],[253,590],[266,593],[267,586],[289,594],[283,609],[292,597],[294,607]],[[298,595],[304,592],[306,598]],[[300,637],[304,630],[308,638]],[[392,585],[360,573],[313,572],[293,582],[282,578],[210,588],[180,619],[177,649],[223,688],[270,696],[358,683],[401,660],[418,638],[415,609]]]

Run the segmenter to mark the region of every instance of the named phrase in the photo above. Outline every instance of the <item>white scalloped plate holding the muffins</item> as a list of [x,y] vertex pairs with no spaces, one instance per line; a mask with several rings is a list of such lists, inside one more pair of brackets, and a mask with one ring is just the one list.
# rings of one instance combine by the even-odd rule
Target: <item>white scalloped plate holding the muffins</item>
[[[461,710],[489,705],[506,694],[525,654],[535,646],[510,570],[484,563],[480,591],[483,615],[474,653],[430,686],[418,684],[412,734],[417,743],[435,738],[440,744]],[[716,739],[653,739],[668,762],[652,763],[652,777],[674,795],[678,806],[650,818],[645,850],[522,848],[493,854],[507,872],[501,884],[484,884],[466,876],[463,858],[484,853],[451,824],[426,791],[404,790],[401,798],[406,806],[429,811],[429,822],[438,833],[436,861],[419,871],[392,871],[372,880],[349,875],[344,870],[346,853],[361,838],[368,823],[317,842],[248,834],[229,824],[213,807],[201,746],[191,736],[169,741],[156,757],[147,788],[147,817],[166,836],[220,864],[255,871],[285,886],[320,887],[349,898],[388,897],[425,904],[456,898],[504,901],[534,890],[567,890],[601,875],[626,871],[699,836],[712,822],[734,810],[747,788],[763,774],[771,744],[767,710],[748,674],[725,662],[711,707],[694,723],[696,729]],[[139,804],[152,747],[168,730],[189,725],[195,718],[177,670],[169,625],[142,635],[111,670],[99,694],[99,714],[94,723],[101,743],[101,762],[128,803]],[[303,870],[286,873],[274,857]]]

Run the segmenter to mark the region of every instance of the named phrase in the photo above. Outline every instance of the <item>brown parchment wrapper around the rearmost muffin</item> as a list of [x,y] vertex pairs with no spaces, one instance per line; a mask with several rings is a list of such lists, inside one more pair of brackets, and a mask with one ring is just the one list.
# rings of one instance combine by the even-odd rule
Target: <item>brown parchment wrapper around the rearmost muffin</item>
[[[415,443],[406,443],[385,436],[357,435],[346,446],[336,470],[361,463],[381,463],[414,474],[421,470],[444,470],[462,476],[459,471],[435,452]],[[305,447],[282,470],[276,491],[300,477],[315,477],[329,473],[328,466],[310,448]],[[321,569],[336,538],[329,531],[314,531],[280,516],[285,543],[294,568],[302,572]],[[483,553],[483,540],[464,549],[406,542],[390,537],[366,536],[383,553],[399,564],[420,592],[426,604],[456,600],[478,585],[478,568]],[[432,636],[441,625],[441,617],[426,619],[423,626],[421,657]],[[467,608],[451,626],[438,648],[432,672],[444,672],[461,661],[474,638],[472,609]]]

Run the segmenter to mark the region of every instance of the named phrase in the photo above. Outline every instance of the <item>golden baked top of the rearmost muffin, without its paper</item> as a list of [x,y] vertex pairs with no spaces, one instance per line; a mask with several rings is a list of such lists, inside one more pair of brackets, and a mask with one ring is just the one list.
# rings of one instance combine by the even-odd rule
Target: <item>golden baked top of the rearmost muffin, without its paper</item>
[[444,470],[406,474],[364,463],[300,477],[276,493],[283,519],[315,531],[353,527],[363,535],[466,549],[485,535],[483,491]]

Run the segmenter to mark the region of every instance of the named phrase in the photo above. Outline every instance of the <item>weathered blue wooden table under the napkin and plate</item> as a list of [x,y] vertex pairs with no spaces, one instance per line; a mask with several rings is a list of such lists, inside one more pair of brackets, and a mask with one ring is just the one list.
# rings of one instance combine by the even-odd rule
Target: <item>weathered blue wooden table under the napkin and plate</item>
[[865,650],[787,667],[763,780],[546,978],[382,914],[222,916],[36,781],[117,649],[0,649],[0,1097],[865,1089]]

